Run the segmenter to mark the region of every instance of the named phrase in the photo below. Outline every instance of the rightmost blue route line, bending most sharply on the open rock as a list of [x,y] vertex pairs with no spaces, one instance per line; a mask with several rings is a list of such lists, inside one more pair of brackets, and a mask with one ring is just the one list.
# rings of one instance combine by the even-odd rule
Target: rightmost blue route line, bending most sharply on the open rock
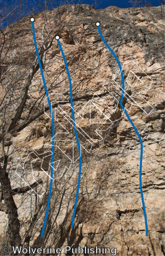
[[117,56],[115,55],[115,53],[112,51],[112,49],[110,48],[110,46],[108,46],[108,44],[106,43],[104,37],[102,36],[101,34],[101,30],[100,30],[100,27],[97,26],[98,28],[98,31],[99,31],[99,34],[101,36],[101,39],[102,41],[105,43],[106,47],[108,48],[109,51],[111,51],[111,53],[113,54],[113,56],[115,57],[115,60],[117,61],[118,63],[118,66],[120,68],[120,73],[121,73],[121,77],[122,77],[122,96],[121,96],[121,99],[120,99],[120,106],[122,107],[123,111],[125,112],[128,120],[130,121],[132,127],[134,128],[135,132],[137,133],[137,136],[140,140],[140,145],[141,145],[141,150],[140,150],[140,168],[139,168],[139,183],[140,183],[140,193],[141,193],[141,201],[142,201],[142,205],[143,205],[143,212],[144,212],[144,220],[145,220],[145,225],[146,225],[146,237],[148,237],[148,225],[147,225],[147,216],[146,216],[146,209],[145,209],[145,204],[144,204],[144,197],[143,197],[143,190],[142,190],[142,182],[141,182],[141,170],[142,170],[142,159],[143,159],[143,142],[141,140],[141,137],[138,133],[138,130],[137,128],[134,126],[134,123],[132,122],[130,116],[127,114],[127,111],[126,109],[124,108],[123,106],[123,97],[124,97],[124,92],[125,92],[125,86],[124,86],[124,76],[123,76],[123,70],[122,70],[122,67],[120,65],[120,62],[117,58]]

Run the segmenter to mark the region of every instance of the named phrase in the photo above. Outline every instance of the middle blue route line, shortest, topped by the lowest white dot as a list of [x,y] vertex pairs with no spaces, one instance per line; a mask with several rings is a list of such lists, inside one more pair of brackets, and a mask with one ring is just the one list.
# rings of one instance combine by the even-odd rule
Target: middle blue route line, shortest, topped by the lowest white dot
[[59,44],[59,48],[61,50],[61,53],[62,53],[62,57],[64,59],[64,63],[65,63],[65,66],[66,66],[66,71],[67,71],[67,74],[68,74],[68,79],[69,79],[69,86],[70,86],[70,99],[71,99],[71,111],[72,111],[72,120],[73,120],[73,127],[74,127],[74,132],[75,132],[75,138],[76,138],[76,141],[77,141],[77,144],[78,144],[78,152],[79,152],[79,173],[78,173],[78,186],[77,186],[77,192],[76,192],[76,197],[75,197],[75,205],[74,205],[74,210],[73,210],[73,216],[72,216],[72,222],[71,222],[71,227],[73,227],[73,223],[74,223],[74,219],[75,219],[75,210],[76,210],[76,207],[77,207],[77,201],[78,201],[78,193],[79,193],[79,188],[80,188],[80,178],[81,178],[81,147],[80,147],[80,142],[78,140],[78,134],[77,134],[77,130],[76,130],[76,126],[75,126],[75,116],[74,116],[74,110],[73,110],[73,96],[72,96],[72,82],[71,82],[71,76],[70,76],[70,73],[69,73],[69,70],[68,70],[68,65],[66,63],[66,58],[65,58],[65,55],[64,55],[64,52],[63,52],[63,49],[62,49],[62,46],[61,46],[61,43],[59,40],[57,40],[58,44]]

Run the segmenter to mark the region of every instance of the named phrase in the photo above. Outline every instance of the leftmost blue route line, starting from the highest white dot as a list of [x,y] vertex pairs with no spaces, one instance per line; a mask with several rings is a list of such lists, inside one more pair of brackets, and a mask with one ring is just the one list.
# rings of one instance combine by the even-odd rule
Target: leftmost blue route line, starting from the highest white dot
[[[51,113],[51,117],[52,117],[52,138],[54,137],[54,117],[53,117],[53,112],[52,112],[52,106],[50,103],[50,98],[49,98],[49,94],[47,92],[47,86],[45,83],[45,78],[44,78],[44,74],[43,74],[43,70],[42,70],[42,65],[41,65],[41,61],[40,61],[40,56],[38,53],[38,48],[37,48],[37,43],[36,43],[36,38],[35,38],[35,29],[34,29],[34,22],[32,23],[32,29],[33,29],[33,39],[34,39],[34,44],[35,44],[35,51],[37,53],[37,58],[38,58],[38,63],[40,66],[40,71],[41,71],[41,75],[42,75],[42,80],[43,80],[43,84],[44,84],[44,88],[45,88],[45,93],[47,96],[47,101],[49,104],[49,108],[50,108],[50,113]],[[49,212],[49,207],[50,207],[50,198],[51,198],[51,194],[52,194],[52,185],[53,185],[53,159],[54,159],[54,140],[52,140],[52,157],[51,157],[51,179],[50,179],[50,190],[49,190],[49,197],[48,197],[48,201],[47,201],[47,210],[45,213],[45,220],[44,220],[44,224],[42,227],[42,232],[41,232],[41,237],[43,237],[44,231],[45,231],[45,226],[46,226],[46,222],[47,222],[47,215]]]

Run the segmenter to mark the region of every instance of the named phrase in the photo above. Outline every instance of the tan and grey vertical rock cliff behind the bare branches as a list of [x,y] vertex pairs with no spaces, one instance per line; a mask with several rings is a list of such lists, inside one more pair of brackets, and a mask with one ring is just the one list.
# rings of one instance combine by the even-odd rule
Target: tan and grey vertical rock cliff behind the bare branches
[[[104,246],[116,248],[116,255],[120,256],[163,256],[165,255],[165,101],[164,17],[161,7],[120,9],[110,6],[104,10],[94,10],[90,5],[62,6],[59,10],[47,11],[47,26],[44,15],[44,13],[36,14],[34,25],[38,48],[41,47],[40,54],[47,47],[45,61],[42,64],[50,100],[52,106],[56,107],[54,162],[61,161],[61,165],[56,169],[54,164],[56,170],[54,175],[56,178],[60,177],[56,179],[59,184],[64,181],[60,179],[71,176],[71,180],[68,181],[71,189],[68,188],[64,197],[64,209],[60,211],[57,225],[74,205],[78,182],[78,160],[75,161],[78,159],[78,147],[71,122],[68,77],[57,41],[52,40],[55,34],[60,36],[59,40],[71,74],[75,122],[82,145],[82,180],[79,196],[84,201],[75,217],[73,229],[69,229],[67,238],[60,245],[61,249],[64,250],[66,245],[73,248],[78,248],[78,245],[81,245],[81,248]],[[120,107],[122,95],[120,71],[115,58],[100,38],[96,22],[100,22],[101,33],[122,66],[125,79],[123,105],[143,142],[142,188],[148,237],[145,233],[139,187],[141,145]],[[11,24],[5,29],[4,34],[8,43],[12,38],[12,49],[9,48],[6,62],[1,65],[2,72],[5,73],[9,68],[9,63],[14,63],[12,74],[13,80],[16,81],[16,85],[13,83],[16,87],[13,87],[16,90],[15,96],[12,96],[15,97],[14,104],[6,110],[11,114],[16,109],[18,102],[16,98],[19,99],[22,86],[28,77],[28,68],[31,68],[36,57],[30,18],[25,17],[17,24]],[[14,36],[11,37],[11,34]],[[46,39],[44,45],[43,39]],[[5,47],[7,48],[7,45]],[[5,51],[2,52],[3,54]],[[9,75],[4,75],[3,79],[6,85],[11,82]],[[1,97],[3,96],[2,92]],[[34,116],[38,109],[42,115],[38,115],[32,123],[24,127],[21,122],[27,120],[30,113]],[[26,108],[14,126],[13,133],[8,133],[5,137],[5,148],[9,146],[12,155],[9,159],[8,172],[13,188],[18,184],[21,186],[23,182],[17,175],[19,172],[23,175],[21,169],[18,169],[18,164],[26,163],[28,185],[33,183],[34,177],[35,180],[37,177],[45,180],[45,176],[48,175],[48,171],[45,170],[50,163],[52,124],[47,109],[42,77],[38,70],[31,80]],[[29,112],[30,110],[32,112]],[[18,126],[21,128],[16,130]],[[11,140],[10,136],[12,136]],[[9,145],[9,141],[12,141],[12,145]],[[74,142],[74,150],[72,142]],[[47,152],[49,154],[46,154]],[[45,162],[38,157],[42,154]],[[49,186],[49,181],[47,182]],[[52,200],[57,193],[56,190],[54,191]],[[42,192],[44,193],[44,190],[39,192],[40,196]],[[29,193],[35,200],[34,192]],[[60,193],[62,196],[62,192]],[[33,201],[30,200],[30,194],[26,195],[27,213]],[[19,219],[24,220],[26,216],[24,202],[22,203],[19,195],[14,196],[14,200],[17,207],[21,205]],[[32,203],[31,208],[34,205]],[[58,207],[56,210],[58,211]],[[3,223],[2,234],[7,215],[0,212],[0,219]],[[51,225],[53,221],[52,217]],[[38,232],[40,228],[38,226]],[[52,247],[55,246],[55,242],[51,242],[54,241],[55,228],[46,245],[52,243]],[[25,233],[24,227],[21,232],[22,235]],[[34,234],[31,244],[35,238]]]

